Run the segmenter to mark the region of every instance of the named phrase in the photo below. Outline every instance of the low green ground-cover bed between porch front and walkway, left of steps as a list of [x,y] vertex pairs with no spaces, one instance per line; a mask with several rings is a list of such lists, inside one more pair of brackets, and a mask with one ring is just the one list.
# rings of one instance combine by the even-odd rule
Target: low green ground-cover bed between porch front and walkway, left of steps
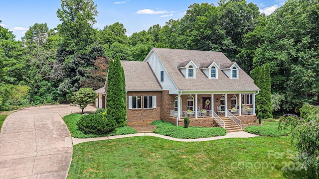
[[163,122],[162,120],[154,121],[151,124],[156,125],[156,128],[153,130],[154,133],[179,139],[198,139],[226,135],[226,130],[221,127],[189,126],[189,128],[184,128],[170,122]]

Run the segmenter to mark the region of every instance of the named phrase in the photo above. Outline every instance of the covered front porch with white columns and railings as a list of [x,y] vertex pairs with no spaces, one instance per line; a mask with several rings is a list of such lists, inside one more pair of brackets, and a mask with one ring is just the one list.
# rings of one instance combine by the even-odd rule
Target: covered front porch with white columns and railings
[[182,119],[255,115],[255,91],[251,93],[181,93],[174,97],[170,116]]

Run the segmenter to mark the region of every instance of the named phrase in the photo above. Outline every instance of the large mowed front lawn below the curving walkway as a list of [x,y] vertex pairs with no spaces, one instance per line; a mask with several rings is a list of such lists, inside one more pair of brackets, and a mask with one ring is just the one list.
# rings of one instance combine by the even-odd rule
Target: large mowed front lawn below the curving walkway
[[305,171],[292,170],[290,141],[290,136],[206,142],[142,136],[87,142],[73,146],[68,178],[300,179]]

